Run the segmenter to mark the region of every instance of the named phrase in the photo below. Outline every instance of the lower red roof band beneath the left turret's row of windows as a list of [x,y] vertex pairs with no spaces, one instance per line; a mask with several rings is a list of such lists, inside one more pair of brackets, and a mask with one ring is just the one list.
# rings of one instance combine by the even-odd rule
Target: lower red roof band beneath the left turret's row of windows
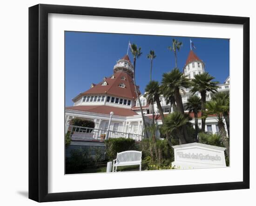
[[114,106],[68,106],[66,109],[78,110],[83,112],[91,112],[91,113],[101,113],[101,114],[109,114],[110,112],[114,112],[114,115],[117,116],[134,116],[138,115],[134,111],[126,108],[119,108]]

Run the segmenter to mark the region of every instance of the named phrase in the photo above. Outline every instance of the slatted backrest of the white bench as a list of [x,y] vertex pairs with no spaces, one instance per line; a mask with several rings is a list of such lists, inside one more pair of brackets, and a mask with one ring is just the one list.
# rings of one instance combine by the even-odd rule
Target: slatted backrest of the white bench
[[116,162],[139,162],[141,161],[141,151],[124,151],[117,153]]

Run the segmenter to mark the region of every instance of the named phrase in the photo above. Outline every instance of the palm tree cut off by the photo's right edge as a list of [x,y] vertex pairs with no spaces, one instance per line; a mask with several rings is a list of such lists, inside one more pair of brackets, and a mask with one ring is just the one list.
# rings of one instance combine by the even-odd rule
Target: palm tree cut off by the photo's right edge
[[222,113],[226,122],[229,135],[229,92],[218,92],[212,97],[212,100],[222,100]]

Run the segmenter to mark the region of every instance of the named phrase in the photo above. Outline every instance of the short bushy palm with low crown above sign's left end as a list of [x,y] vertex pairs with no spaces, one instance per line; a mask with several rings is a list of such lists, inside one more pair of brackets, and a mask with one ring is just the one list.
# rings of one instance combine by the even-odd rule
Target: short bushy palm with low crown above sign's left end
[[186,144],[187,141],[183,136],[183,126],[186,126],[188,121],[188,118],[180,112],[170,113],[165,117],[161,131],[172,137],[177,136],[180,140],[180,145]]

